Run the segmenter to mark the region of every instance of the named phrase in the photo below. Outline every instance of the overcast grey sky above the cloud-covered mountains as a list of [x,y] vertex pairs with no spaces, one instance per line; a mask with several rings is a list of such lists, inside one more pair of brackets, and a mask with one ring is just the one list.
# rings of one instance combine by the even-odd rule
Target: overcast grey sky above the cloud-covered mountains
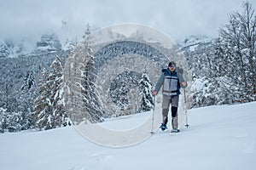
[[[241,11],[242,0],[0,0],[0,40],[35,42],[44,32],[81,37],[86,24],[106,27],[121,23],[152,26],[174,40],[189,35],[215,37],[228,14]],[[256,1],[250,0],[253,8]],[[63,33],[63,31],[62,31]],[[65,32],[64,32],[65,33]]]

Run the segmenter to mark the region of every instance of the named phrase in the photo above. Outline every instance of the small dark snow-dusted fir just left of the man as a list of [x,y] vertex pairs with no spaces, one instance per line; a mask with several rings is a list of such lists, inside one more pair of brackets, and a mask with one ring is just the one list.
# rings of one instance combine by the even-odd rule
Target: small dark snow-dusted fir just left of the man
[[152,84],[150,83],[147,74],[143,73],[139,85],[143,94],[141,111],[150,111],[153,108],[154,102],[152,95]]

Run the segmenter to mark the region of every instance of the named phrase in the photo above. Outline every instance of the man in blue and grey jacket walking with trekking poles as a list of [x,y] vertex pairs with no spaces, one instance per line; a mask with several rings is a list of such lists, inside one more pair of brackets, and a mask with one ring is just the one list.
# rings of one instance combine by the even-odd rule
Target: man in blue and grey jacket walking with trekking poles
[[162,116],[163,122],[160,126],[164,131],[167,128],[169,107],[172,104],[172,133],[178,133],[177,124],[177,107],[180,88],[186,88],[187,82],[183,80],[183,75],[176,71],[176,63],[171,61],[167,69],[162,70],[162,74],[155,85],[154,96],[159,93],[162,87],[163,101],[162,101]]

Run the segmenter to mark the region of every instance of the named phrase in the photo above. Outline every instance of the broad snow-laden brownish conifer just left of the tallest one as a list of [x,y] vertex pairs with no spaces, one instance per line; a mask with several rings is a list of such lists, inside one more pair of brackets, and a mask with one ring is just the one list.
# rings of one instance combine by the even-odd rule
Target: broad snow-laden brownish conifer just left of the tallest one
[[34,122],[39,129],[70,125],[63,99],[63,66],[56,57],[49,74],[42,72],[38,83],[40,95],[35,101]]

